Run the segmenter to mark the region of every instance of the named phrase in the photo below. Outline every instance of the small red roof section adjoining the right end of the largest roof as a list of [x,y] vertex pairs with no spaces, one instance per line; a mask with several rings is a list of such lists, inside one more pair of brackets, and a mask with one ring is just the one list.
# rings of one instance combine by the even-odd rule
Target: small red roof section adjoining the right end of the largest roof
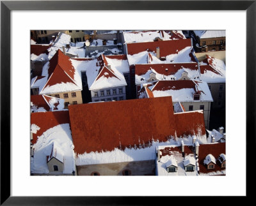
[[203,112],[182,112],[174,114],[176,135],[205,135]]

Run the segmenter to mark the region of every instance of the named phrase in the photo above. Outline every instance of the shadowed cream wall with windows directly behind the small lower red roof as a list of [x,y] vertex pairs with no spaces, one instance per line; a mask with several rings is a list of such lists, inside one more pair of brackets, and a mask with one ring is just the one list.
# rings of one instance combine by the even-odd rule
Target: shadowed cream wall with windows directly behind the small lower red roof
[[[209,128],[209,121],[210,121],[210,110],[211,110],[211,103],[209,101],[191,101],[191,102],[180,102],[186,112],[189,112],[189,105],[193,105],[193,111],[200,110],[200,105],[204,105],[204,124],[205,128]],[[173,102],[173,105],[175,102]]]

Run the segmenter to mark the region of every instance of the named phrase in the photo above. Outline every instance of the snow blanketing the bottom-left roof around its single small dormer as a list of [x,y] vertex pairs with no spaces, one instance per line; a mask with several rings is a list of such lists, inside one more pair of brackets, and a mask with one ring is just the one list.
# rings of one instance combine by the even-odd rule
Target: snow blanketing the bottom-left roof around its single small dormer
[[[54,112],[56,114],[56,112]],[[52,151],[52,145],[53,151]],[[48,128],[38,135],[38,141],[33,145],[34,156],[31,161],[32,173],[49,173],[47,156],[63,161],[63,173],[72,174],[75,171],[74,145],[69,124],[58,124]]]

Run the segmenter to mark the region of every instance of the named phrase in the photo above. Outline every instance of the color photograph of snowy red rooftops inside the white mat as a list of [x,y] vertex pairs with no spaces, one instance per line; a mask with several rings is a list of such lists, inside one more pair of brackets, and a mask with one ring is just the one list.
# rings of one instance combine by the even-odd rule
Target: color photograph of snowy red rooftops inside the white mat
[[31,31],[31,175],[225,175],[225,31]]

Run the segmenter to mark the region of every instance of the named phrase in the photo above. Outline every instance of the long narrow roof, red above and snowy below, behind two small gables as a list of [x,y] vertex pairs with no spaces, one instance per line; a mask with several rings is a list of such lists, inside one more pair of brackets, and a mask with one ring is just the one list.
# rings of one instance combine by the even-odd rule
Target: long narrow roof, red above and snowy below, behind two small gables
[[197,63],[136,64],[135,83],[150,81],[150,73],[154,73],[157,80],[179,80],[184,71],[188,72],[189,78],[200,79]]

